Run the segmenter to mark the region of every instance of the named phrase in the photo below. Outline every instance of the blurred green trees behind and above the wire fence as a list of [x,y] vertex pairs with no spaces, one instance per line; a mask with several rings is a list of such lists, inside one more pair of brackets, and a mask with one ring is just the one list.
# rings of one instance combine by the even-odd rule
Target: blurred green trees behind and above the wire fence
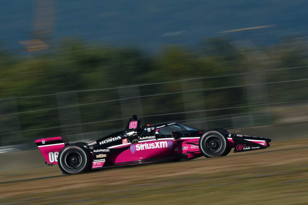
[[[288,39],[278,45],[262,48],[268,56],[271,69],[307,65],[307,42],[303,38]],[[158,55],[148,55],[133,48],[114,48],[92,45],[79,39],[64,39],[54,50],[35,55],[18,56],[0,49],[0,97],[20,97],[27,95],[55,94],[65,91],[99,89],[117,86],[129,86],[165,81],[177,81],[188,78],[211,77],[242,73],[251,70],[268,69],[259,58],[252,55],[253,48],[241,50],[251,56],[243,57],[228,38],[211,38],[200,42],[200,49],[170,45],[164,47]],[[307,68],[266,72],[265,82],[302,79],[307,76]],[[194,81],[187,81],[189,88]],[[244,75],[231,77],[204,78],[198,81],[198,89],[203,90],[204,101],[194,100],[189,109],[216,109],[248,105]],[[301,89],[306,81],[267,86],[270,102],[302,100],[306,97]],[[183,112],[181,82],[140,86],[140,95],[164,94],[140,98],[144,115]],[[217,87],[231,87],[211,90]],[[166,94],[172,93],[174,94]],[[287,93],[287,94],[286,94]],[[122,118],[118,90],[94,90],[77,92],[82,123],[91,123],[108,119]],[[192,93],[198,95],[197,93]],[[192,97],[192,98],[197,98]],[[103,102],[102,102],[103,101]],[[109,102],[104,102],[109,101]],[[205,103],[204,103],[205,102]],[[73,105],[73,104],[72,104]],[[25,139],[38,136],[57,135],[61,130],[55,95],[17,99],[21,130],[36,130],[46,127],[58,127],[49,130],[37,130],[23,133]],[[51,109],[51,110],[45,110]],[[256,110],[259,108],[256,108]],[[34,110],[44,110],[28,112]],[[211,111],[207,117],[247,112],[245,108]],[[1,117],[1,116],[0,116]],[[128,116],[129,117],[129,116]],[[184,115],[172,115],[170,118],[183,119]],[[157,117],[157,121],[165,118]],[[151,120],[152,121],[152,120]],[[82,126],[83,131],[116,129],[122,123],[91,123]],[[1,134],[1,133],[0,133]]]

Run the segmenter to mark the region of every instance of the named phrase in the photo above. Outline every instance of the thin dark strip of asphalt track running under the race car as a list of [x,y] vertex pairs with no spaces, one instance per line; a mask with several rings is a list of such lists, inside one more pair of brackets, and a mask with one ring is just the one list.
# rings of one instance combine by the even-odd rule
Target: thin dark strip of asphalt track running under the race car
[[[290,148],[290,149],[280,149],[280,150],[270,150],[270,151],[261,151],[261,152],[253,152],[253,153],[241,153],[241,154],[235,154],[235,155],[231,155],[231,156],[225,156],[225,157],[239,157],[241,155],[257,155],[257,154],[262,154],[262,153],[270,153],[270,152],[281,152],[281,151],[292,151],[292,150],[300,150],[300,149],[308,149],[308,147],[295,147],[295,148]],[[201,159],[193,159],[193,161],[199,161],[199,160],[206,160],[206,158],[201,158]],[[171,162],[171,163],[187,163],[191,160],[187,160],[187,161],[181,161],[181,162]],[[170,162],[165,162],[165,163],[170,163]],[[126,165],[126,166],[120,166],[120,167],[110,167],[110,168],[105,168],[105,169],[113,169],[113,168],[125,168],[128,166],[142,166],[142,164],[136,164],[136,165]],[[105,169],[99,169],[93,172],[89,172],[87,174],[91,174],[91,173],[96,173],[98,171],[103,171]],[[16,182],[26,182],[26,181],[34,181],[34,180],[40,180],[40,179],[51,179],[51,178],[59,178],[59,177],[66,177],[68,175],[56,175],[56,176],[48,176],[48,177],[39,177],[39,178],[33,178],[33,179],[23,179],[23,180],[15,180],[15,181],[7,181],[7,182],[0,182],[0,184],[7,184],[7,183],[16,183]]]

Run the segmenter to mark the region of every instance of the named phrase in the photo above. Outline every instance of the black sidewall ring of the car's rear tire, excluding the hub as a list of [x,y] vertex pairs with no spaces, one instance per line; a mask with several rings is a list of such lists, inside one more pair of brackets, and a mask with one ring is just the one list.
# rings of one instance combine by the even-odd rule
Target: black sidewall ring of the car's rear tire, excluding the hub
[[[81,155],[82,158],[82,164],[79,168],[77,168],[76,170],[70,170],[67,169],[65,163],[64,163],[64,156],[68,151],[76,151]],[[78,174],[78,173],[82,173],[83,171],[85,171],[88,168],[89,165],[89,155],[86,151],[86,149],[84,149],[82,146],[80,146],[79,144],[71,144],[68,145],[66,147],[64,147],[60,153],[59,153],[59,157],[58,157],[58,165],[59,168],[65,173],[65,174]]]

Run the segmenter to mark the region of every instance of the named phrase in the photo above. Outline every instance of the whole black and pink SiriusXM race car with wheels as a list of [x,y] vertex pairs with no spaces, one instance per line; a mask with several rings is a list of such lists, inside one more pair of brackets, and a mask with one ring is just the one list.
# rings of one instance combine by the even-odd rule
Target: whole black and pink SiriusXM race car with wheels
[[205,156],[265,149],[270,139],[235,135],[216,128],[203,131],[179,123],[140,127],[133,115],[124,131],[116,132],[91,143],[70,144],[65,137],[35,140],[46,164],[58,164],[65,174],[77,174],[99,168],[181,161]]

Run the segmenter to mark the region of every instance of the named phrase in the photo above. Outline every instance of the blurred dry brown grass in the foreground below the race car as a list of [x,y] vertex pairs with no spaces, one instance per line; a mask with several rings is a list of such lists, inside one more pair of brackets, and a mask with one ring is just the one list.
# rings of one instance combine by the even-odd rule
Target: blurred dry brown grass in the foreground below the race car
[[[306,147],[308,140],[271,144],[265,151]],[[232,153],[216,159],[2,183],[0,203],[307,204],[307,153],[307,149],[253,155]],[[58,167],[3,173],[0,182],[53,175],[61,175]]]

